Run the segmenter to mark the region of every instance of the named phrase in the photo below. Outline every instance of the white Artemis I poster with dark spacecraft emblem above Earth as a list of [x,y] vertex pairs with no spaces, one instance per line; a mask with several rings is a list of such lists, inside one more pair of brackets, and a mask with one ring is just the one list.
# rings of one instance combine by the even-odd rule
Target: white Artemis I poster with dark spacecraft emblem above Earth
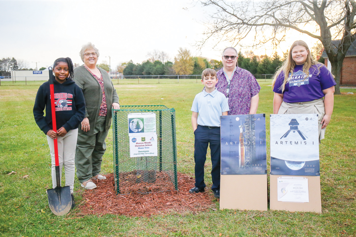
[[271,114],[271,174],[320,176],[317,114]]

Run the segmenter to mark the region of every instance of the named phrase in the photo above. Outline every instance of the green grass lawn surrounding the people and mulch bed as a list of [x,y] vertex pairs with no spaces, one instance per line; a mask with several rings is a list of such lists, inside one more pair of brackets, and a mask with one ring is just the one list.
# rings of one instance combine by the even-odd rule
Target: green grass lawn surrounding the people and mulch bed
[[[194,175],[190,108],[195,94],[203,88],[192,82],[195,80],[182,79],[179,84],[115,84],[121,105],[162,104],[176,109],[178,172],[190,176]],[[46,189],[51,188],[49,148],[32,114],[41,83],[11,86],[1,82],[0,236],[356,236],[356,95],[335,96],[331,123],[320,145],[322,214],[221,211],[216,202],[216,208],[198,213],[100,217],[80,216],[79,210],[74,209],[68,216],[57,217],[49,209],[46,195]],[[260,81],[257,113],[272,113],[270,84]],[[356,89],[341,91],[356,94]],[[269,116],[266,118],[269,137]],[[111,131],[107,145],[102,166],[105,174],[113,172]],[[269,142],[267,147],[269,154]],[[11,171],[16,174],[7,175]],[[28,177],[23,178],[25,175]],[[209,170],[206,180],[211,185]],[[77,178],[74,189],[80,204],[83,189]]]

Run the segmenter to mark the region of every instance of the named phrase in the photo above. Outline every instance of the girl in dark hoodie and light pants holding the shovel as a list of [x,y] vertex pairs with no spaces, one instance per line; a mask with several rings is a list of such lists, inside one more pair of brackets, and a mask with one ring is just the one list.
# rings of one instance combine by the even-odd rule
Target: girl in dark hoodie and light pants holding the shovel
[[[72,208],[74,204],[74,156],[77,145],[78,126],[85,116],[85,101],[82,90],[72,80],[74,75],[73,63],[70,58],[59,58],[53,63],[54,103],[56,109],[57,131],[52,125],[51,96],[49,91],[49,81],[43,83],[37,91],[33,115],[38,127],[47,135],[49,150],[52,157],[52,185],[57,186],[54,142],[58,142],[59,171],[66,176],[66,186],[70,186],[72,194]],[[46,116],[44,110],[46,109]]]

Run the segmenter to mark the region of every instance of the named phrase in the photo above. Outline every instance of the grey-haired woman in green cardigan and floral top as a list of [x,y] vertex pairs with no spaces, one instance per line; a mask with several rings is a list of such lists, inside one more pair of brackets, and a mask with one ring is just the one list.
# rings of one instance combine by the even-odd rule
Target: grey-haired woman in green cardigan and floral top
[[84,94],[85,118],[78,129],[75,166],[81,186],[94,189],[91,179],[106,179],[100,174],[105,138],[111,125],[111,108],[120,109],[120,105],[108,72],[96,67],[99,50],[94,44],[83,45],[80,57],[84,65],[74,69],[73,80]]

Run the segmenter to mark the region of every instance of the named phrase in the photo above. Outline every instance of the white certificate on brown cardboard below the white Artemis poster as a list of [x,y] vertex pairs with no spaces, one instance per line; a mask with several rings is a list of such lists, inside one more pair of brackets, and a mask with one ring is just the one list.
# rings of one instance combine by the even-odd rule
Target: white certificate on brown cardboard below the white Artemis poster
[[277,183],[278,201],[309,203],[307,178],[279,177]]

